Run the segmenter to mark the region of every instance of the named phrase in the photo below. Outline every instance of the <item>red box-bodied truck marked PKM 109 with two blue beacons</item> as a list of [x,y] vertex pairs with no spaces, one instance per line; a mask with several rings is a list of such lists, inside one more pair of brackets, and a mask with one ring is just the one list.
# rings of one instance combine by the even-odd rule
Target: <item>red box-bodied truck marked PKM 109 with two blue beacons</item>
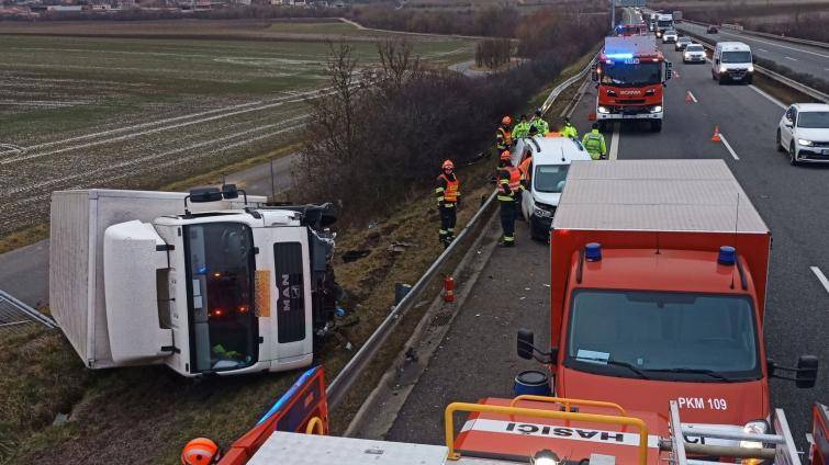
[[550,241],[556,395],[765,432],[770,377],[814,386],[815,356],[766,358],[771,234],[725,161],[573,162]]

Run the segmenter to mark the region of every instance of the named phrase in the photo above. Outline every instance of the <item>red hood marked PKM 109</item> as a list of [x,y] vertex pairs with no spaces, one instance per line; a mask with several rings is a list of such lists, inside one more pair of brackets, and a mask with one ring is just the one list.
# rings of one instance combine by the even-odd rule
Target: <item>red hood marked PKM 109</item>
[[560,373],[556,387],[561,397],[606,400],[630,410],[652,411],[665,420],[670,400],[677,400],[683,422],[742,427],[769,416],[769,390],[763,381],[688,383],[639,379],[567,367]]

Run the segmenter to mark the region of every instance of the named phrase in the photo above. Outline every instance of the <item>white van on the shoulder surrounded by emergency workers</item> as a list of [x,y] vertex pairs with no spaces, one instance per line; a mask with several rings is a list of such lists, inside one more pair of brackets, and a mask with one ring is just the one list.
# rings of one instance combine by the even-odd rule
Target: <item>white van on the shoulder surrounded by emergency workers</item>
[[522,214],[529,223],[533,239],[549,240],[552,215],[559,205],[570,162],[591,161],[579,140],[568,137],[519,139],[513,149],[513,165],[518,166],[531,154],[530,175],[522,196]]

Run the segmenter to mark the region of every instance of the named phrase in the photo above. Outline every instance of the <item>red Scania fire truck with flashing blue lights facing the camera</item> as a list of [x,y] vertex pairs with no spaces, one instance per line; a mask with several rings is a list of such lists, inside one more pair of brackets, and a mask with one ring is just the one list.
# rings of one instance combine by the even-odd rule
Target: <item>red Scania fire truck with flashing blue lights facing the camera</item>
[[645,120],[652,131],[662,131],[664,87],[671,75],[671,63],[652,35],[605,37],[592,73],[597,82],[596,120],[603,126]]

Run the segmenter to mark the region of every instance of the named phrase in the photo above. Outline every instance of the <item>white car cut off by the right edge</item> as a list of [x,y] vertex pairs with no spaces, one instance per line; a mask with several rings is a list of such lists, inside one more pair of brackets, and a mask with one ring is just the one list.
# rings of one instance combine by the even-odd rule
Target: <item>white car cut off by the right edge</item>
[[829,162],[829,104],[795,103],[780,118],[777,150],[792,165]]

